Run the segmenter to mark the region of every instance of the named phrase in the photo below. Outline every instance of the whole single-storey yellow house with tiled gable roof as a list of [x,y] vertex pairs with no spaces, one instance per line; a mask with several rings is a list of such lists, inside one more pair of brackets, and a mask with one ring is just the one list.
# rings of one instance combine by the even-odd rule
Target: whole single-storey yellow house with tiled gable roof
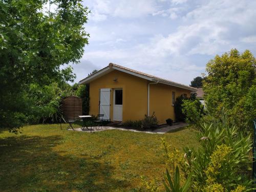
[[141,73],[110,63],[82,79],[90,84],[90,115],[104,114],[103,119],[126,121],[143,119],[155,112],[159,123],[175,120],[176,97],[190,96],[196,89],[184,84]]

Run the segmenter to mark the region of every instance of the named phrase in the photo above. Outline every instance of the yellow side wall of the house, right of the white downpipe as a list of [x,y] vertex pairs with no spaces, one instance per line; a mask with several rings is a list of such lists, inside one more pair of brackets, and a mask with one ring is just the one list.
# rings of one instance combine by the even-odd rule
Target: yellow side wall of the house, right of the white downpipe
[[150,115],[155,112],[160,124],[166,123],[167,118],[175,120],[172,92],[175,92],[176,98],[184,93],[190,96],[190,91],[167,84],[157,83],[150,86]]

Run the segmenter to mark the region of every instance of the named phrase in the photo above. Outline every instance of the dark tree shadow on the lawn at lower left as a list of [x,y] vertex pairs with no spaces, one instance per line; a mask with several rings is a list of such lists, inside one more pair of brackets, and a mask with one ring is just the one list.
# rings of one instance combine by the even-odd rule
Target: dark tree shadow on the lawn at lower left
[[112,179],[108,162],[72,151],[59,155],[53,147],[62,142],[60,136],[0,139],[0,191],[113,191],[130,185]]

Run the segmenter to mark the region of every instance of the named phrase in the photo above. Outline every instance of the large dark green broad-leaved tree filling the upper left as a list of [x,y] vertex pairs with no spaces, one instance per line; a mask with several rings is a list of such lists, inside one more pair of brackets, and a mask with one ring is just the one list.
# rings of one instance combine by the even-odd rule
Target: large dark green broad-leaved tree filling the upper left
[[45,10],[47,0],[0,2],[0,127],[14,130],[25,122],[32,104],[30,84],[44,87],[72,81],[72,68],[88,44],[85,31],[90,12],[79,0],[53,0],[55,10]]

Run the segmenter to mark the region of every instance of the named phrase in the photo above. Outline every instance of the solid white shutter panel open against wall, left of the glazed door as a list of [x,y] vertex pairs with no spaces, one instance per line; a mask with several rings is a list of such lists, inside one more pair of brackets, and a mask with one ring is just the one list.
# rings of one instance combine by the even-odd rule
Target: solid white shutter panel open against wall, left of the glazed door
[[110,120],[110,89],[100,89],[99,114],[103,114],[104,120]]

